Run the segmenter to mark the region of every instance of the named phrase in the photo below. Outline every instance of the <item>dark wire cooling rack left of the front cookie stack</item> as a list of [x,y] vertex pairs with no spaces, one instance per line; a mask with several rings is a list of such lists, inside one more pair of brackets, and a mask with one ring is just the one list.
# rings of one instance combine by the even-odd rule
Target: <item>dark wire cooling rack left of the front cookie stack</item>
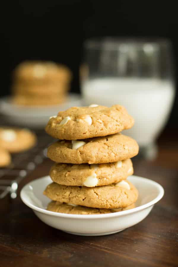
[[0,169],[0,199],[8,194],[16,198],[20,182],[47,157],[47,147],[54,139],[43,132],[37,133],[37,140],[35,147],[12,155],[8,168]]

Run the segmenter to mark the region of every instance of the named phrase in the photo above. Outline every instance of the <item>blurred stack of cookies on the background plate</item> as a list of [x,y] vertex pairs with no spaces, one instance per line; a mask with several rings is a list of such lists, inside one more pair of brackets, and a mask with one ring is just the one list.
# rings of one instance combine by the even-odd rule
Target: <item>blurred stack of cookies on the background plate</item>
[[13,73],[12,101],[20,105],[53,105],[65,101],[71,72],[54,62],[23,62]]

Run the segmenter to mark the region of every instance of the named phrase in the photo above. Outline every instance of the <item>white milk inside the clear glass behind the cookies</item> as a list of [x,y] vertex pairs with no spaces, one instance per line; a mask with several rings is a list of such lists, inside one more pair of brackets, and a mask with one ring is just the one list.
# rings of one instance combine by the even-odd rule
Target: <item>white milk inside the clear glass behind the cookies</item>
[[138,78],[97,78],[83,81],[85,105],[123,105],[135,119],[124,134],[140,146],[154,142],[168,119],[174,99],[171,81]]

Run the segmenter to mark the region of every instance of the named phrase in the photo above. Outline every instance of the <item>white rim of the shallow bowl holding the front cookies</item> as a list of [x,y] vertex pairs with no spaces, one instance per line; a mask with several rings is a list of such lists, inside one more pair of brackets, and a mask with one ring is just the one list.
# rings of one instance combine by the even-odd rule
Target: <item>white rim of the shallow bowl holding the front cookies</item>
[[[41,177],[41,178],[38,178],[36,180],[45,179],[45,178],[48,178],[48,177],[49,177],[49,175]],[[153,185],[155,185],[159,190],[158,196],[156,198],[154,198],[152,201],[149,201],[148,203],[143,204],[143,205],[138,206],[138,207],[133,208],[133,209],[120,211],[120,212],[114,212],[114,213],[92,214],[92,215],[65,214],[65,213],[60,213],[60,212],[51,212],[51,211],[48,211],[46,209],[39,208],[39,207],[37,207],[37,206],[35,206],[35,205],[31,204],[31,203],[28,203],[28,201],[26,201],[24,199],[24,197],[23,197],[23,191],[26,189],[26,187],[28,187],[31,184],[31,182],[34,182],[36,180],[33,180],[33,181],[29,182],[28,184],[26,184],[25,186],[23,186],[23,188],[20,191],[20,198],[21,198],[21,200],[23,201],[24,204],[26,204],[29,208],[31,208],[31,209],[33,209],[33,210],[35,210],[37,212],[41,212],[41,213],[44,213],[44,214],[47,214],[47,215],[52,215],[52,216],[55,216],[55,217],[64,217],[64,218],[71,218],[71,219],[85,219],[85,220],[87,220],[87,219],[118,217],[118,216],[124,216],[126,214],[139,212],[139,211],[141,211],[143,209],[146,209],[146,208],[148,208],[150,206],[153,206],[154,204],[156,204],[164,196],[164,189],[157,182],[155,182],[155,181],[153,181],[151,179],[147,179],[147,178],[144,178],[144,177],[139,177],[139,176],[136,176],[136,175],[132,175],[131,177],[133,177],[135,179],[147,180],[148,182],[150,182]]]

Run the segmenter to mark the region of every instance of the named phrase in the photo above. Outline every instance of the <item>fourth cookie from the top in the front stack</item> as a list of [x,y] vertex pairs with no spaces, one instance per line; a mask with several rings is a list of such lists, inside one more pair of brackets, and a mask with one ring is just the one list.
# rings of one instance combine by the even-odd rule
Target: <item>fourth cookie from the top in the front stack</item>
[[124,180],[96,187],[66,186],[53,182],[43,193],[54,201],[102,209],[125,208],[135,203],[138,197],[136,187]]

